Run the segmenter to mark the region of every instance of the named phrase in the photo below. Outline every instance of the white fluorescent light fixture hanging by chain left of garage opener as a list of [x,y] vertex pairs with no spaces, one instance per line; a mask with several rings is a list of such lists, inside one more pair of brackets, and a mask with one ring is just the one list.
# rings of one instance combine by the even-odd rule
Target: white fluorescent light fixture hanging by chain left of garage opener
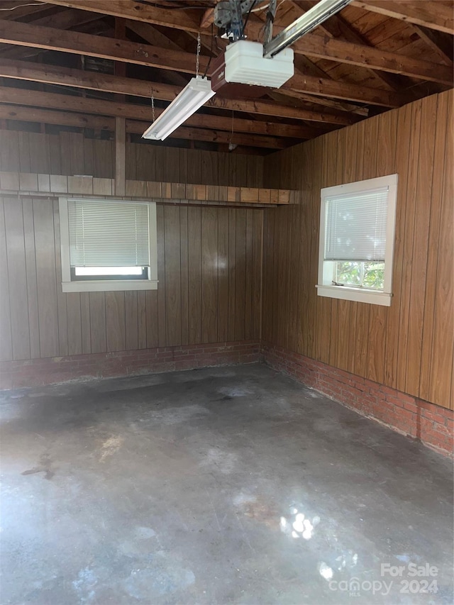
[[208,78],[192,78],[189,84],[161,113],[150,128],[143,133],[142,138],[151,140],[164,140],[178,126],[187,121],[202,105],[216,94],[211,90],[211,81]]

